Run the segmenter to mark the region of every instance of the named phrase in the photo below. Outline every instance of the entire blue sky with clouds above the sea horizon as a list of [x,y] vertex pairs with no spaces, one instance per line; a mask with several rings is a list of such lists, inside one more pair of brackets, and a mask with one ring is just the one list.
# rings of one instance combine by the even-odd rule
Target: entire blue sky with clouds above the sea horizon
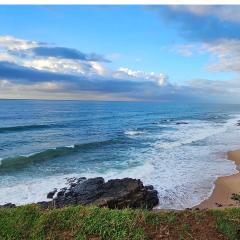
[[240,103],[240,6],[0,6],[0,99]]

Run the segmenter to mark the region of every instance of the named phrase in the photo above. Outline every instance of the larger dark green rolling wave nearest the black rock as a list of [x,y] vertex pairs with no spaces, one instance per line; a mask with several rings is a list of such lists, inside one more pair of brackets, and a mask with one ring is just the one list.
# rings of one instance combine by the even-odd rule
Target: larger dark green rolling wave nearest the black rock
[[7,157],[7,158],[0,159],[0,170],[22,168],[31,163],[37,163],[45,160],[51,160],[58,157],[68,156],[68,155],[79,153],[81,151],[95,149],[95,148],[103,147],[110,144],[116,144],[119,142],[120,142],[120,139],[111,139],[111,140],[105,140],[105,141],[99,141],[99,142],[75,144],[75,145],[70,145],[65,147],[47,149],[42,152],[33,153],[27,156],[20,155],[15,157]]

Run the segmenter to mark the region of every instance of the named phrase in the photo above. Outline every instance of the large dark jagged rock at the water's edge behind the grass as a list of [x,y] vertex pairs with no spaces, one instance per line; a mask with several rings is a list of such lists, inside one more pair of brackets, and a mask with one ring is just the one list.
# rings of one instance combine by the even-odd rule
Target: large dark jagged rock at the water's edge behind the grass
[[[76,181],[75,181],[76,183]],[[105,182],[103,178],[77,180],[68,189],[61,191],[53,199],[53,205],[64,207],[72,204],[94,204],[108,208],[148,208],[159,203],[157,191],[153,186],[143,186],[140,180],[132,178],[113,179]]]

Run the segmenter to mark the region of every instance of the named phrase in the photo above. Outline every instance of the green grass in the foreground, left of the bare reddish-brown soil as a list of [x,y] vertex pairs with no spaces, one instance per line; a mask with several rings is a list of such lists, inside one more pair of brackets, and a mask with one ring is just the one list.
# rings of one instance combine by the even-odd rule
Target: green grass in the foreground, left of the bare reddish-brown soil
[[37,206],[0,209],[0,239],[146,239],[139,225],[144,211],[67,207],[41,210]]

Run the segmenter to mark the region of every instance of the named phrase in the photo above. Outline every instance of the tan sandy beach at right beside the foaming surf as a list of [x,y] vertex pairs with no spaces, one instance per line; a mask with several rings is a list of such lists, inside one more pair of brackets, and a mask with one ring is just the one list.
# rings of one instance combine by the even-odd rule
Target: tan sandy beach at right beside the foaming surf
[[[240,170],[240,150],[229,151],[228,159],[234,161],[236,169]],[[239,203],[231,199],[233,193],[240,194],[239,172],[231,176],[218,178],[215,182],[215,188],[210,198],[206,199],[196,207],[200,209],[211,209],[240,206]]]

